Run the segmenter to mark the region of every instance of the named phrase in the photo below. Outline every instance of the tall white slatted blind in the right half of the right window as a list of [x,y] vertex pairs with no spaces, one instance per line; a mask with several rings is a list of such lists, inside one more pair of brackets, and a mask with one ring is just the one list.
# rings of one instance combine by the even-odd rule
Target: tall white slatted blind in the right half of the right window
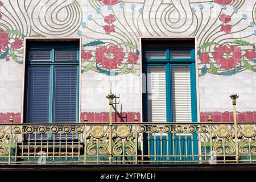
[[172,117],[174,122],[191,122],[189,66],[172,67]]

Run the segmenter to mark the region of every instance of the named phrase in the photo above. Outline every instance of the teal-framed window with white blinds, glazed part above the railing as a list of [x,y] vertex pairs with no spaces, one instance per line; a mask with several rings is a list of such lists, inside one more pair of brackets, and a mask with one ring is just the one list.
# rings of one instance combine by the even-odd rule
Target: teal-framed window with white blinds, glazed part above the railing
[[143,121],[196,122],[194,50],[144,49],[143,57]]

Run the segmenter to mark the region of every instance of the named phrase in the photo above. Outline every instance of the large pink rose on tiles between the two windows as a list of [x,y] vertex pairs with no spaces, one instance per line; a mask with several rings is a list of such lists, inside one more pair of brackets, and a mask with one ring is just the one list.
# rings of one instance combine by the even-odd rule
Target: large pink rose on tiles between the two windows
[[123,48],[118,46],[101,46],[96,49],[96,63],[102,65],[102,68],[115,69],[122,65],[122,61],[125,57]]

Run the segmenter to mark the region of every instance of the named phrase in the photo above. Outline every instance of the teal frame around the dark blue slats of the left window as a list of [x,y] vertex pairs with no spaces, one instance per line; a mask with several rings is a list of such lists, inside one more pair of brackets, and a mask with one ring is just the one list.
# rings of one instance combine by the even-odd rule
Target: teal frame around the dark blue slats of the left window
[[[28,60],[28,53],[29,51],[43,51],[43,50],[49,50],[50,51],[50,61],[33,61],[33,60]],[[73,60],[73,61],[55,61],[56,57],[55,57],[55,51],[57,50],[75,50],[77,51],[77,60]],[[54,123],[53,121],[53,113],[54,113],[54,92],[55,92],[55,67],[68,67],[68,66],[74,66],[77,68],[77,89],[76,89],[76,121],[74,123],[78,123],[79,122],[79,65],[80,65],[80,61],[79,61],[79,47],[74,47],[74,46],[33,46],[33,47],[28,47],[26,49],[26,68],[25,68],[25,96],[24,96],[24,116],[23,116],[23,122],[27,123],[26,119],[27,119],[27,105],[26,105],[26,101],[27,101],[27,84],[28,84],[28,75],[27,75],[27,69],[28,67],[32,66],[32,67],[50,67],[50,93],[49,93],[49,120],[48,123]],[[73,122],[72,122],[73,123]]]

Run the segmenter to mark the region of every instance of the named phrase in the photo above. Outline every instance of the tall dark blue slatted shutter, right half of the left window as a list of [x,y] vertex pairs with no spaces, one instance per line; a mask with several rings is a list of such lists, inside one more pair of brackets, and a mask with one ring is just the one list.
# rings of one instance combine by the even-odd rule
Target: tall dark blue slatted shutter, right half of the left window
[[77,67],[55,67],[54,122],[76,122]]

